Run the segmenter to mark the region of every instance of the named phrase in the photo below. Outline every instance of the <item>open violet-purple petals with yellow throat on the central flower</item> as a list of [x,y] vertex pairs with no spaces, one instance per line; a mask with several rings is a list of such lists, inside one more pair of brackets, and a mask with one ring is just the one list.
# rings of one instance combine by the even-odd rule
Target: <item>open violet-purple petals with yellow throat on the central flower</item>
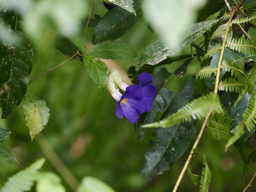
[[126,117],[131,123],[138,121],[138,114],[150,112],[157,88],[151,83],[153,78],[148,73],[139,75],[139,83],[126,88],[125,93],[117,102],[116,116]]

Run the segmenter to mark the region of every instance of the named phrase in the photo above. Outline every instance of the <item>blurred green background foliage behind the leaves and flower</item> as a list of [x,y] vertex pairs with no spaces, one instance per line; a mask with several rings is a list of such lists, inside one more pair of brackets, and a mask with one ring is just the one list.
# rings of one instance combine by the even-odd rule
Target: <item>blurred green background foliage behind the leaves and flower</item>
[[[89,13],[89,6],[86,6],[86,9],[84,12]],[[102,1],[93,1],[93,14],[102,17],[106,11]],[[57,32],[54,31],[55,24],[49,20],[45,24],[49,28],[43,26],[47,28],[45,33],[39,34],[39,40],[35,39],[38,43],[35,44],[31,80],[69,58],[51,47],[57,36]],[[151,32],[147,26],[147,21],[142,17],[119,40],[141,55],[151,42],[158,39],[158,35]],[[88,53],[93,46],[93,30],[93,28],[87,29],[81,47],[83,53]],[[72,37],[77,46],[80,45],[83,31],[83,28],[78,29],[77,34]],[[198,42],[200,40],[198,39]],[[190,47],[186,47],[174,56],[186,54],[190,54]],[[185,59],[164,67],[169,72],[174,72],[183,61]],[[121,69],[125,74],[137,62],[138,57],[111,60],[109,65]],[[168,80],[167,89],[177,93],[190,76],[197,74],[199,66],[198,60],[192,60],[183,77],[173,76]],[[154,139],[151,135],[153,130],[147,130],[144,139],[138,144],[139,133],[135,133],[134,125],[126,119],[119,120],[116,117],[116,102],[106,90],[101,92],[95,86],[81,62],[70,60],[58,69],[36,79],[29,84],[26,94],[40,97],[47,102],[51,116],[42,134],[79,182],[84,176],[93,176],[109,184],[115,191],[167,192],[173,189],[188,153],[177,160],[164,175],[159,175],[146,183],[146,179],[140,177],[141,167],[149,141]],[[0,127],[12,132],[3,143],[11,148],[19,162],[17,164],[0,158],[0,184],[5,183],[18,170],[29,166],[39,158],[46,157],[37,143],[37,139],[40,138],[35,138],[31,142],[23,116],[22,106],[18,106],[7,119],[0,120]],[[243,163],[236,149],[230,147],[227,153],[223,153],[225,141],[214,140],[204,134],[199,146],[204,148],[211,169],[211,191],[241,191],[246,183],[241,179],[242,177],[234,177],[243,173]],[[251,139],[255,144],[253,137]],[[190,142],[193,143],[194,140],[195,138]],[[200,175],[202,164],[198,161],[191,163],[192,172]],[[249,165],[249,169],[254,170],[255,165]],[[57,173],[49,160],[46,160],[41,170]],[[72,191],[67,183],[63,182],[63,184],[67,191]],[[185,175],[179,191],[198,191],[198,186],[193,185]]]

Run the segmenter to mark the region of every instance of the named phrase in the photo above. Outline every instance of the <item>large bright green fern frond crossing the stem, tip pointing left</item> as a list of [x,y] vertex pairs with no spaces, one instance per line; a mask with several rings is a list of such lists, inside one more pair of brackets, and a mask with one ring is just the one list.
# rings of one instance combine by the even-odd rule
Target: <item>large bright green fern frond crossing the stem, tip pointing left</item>
[[212,114],[222,113],[222,107],[218,95],[210,93],[190,101],[182,109],[179,109],[176,113],[169,117],[155,123],[145,124],[142,127],[170,127],[179,122],[191,121],[192,119],[205,118],[208,112]]

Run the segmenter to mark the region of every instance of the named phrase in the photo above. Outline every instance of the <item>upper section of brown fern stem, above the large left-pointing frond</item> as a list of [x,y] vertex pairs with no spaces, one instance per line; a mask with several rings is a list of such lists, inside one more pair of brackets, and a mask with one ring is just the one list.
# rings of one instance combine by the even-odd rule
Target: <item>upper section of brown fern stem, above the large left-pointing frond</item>
[[214,89],[215,94],[218,93],[218,86],[219,86],[219,80],[220,80],[220,71],[221,71],[221,62],[222,62],[222,58],[223,58],[223,54],[224,54],[225,44],[226,44],[226,41],[227,41],[228,29],[229,29],[232,17],[234,15],[234,12],[236,12],[236,9],[234,9],[231,12],[231,15],[228,19],[224,39],[223,39],[223,42],[222,42],[221,53],[220,53],[220,58],[219,58],[219,62],[218,62],[217,74],[216,74],[216,81],[215,81],[215,89]]

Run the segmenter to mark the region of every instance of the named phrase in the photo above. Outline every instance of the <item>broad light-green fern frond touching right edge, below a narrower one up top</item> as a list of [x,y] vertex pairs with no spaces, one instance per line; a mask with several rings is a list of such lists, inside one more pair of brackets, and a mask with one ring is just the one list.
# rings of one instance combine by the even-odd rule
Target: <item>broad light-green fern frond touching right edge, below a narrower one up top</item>
[[255,41],[245,39],[243,37],[233,38],[231,41],[227,41],[225,47],[228,47],[233,51],[242,52],[247,55],[256,54]]

